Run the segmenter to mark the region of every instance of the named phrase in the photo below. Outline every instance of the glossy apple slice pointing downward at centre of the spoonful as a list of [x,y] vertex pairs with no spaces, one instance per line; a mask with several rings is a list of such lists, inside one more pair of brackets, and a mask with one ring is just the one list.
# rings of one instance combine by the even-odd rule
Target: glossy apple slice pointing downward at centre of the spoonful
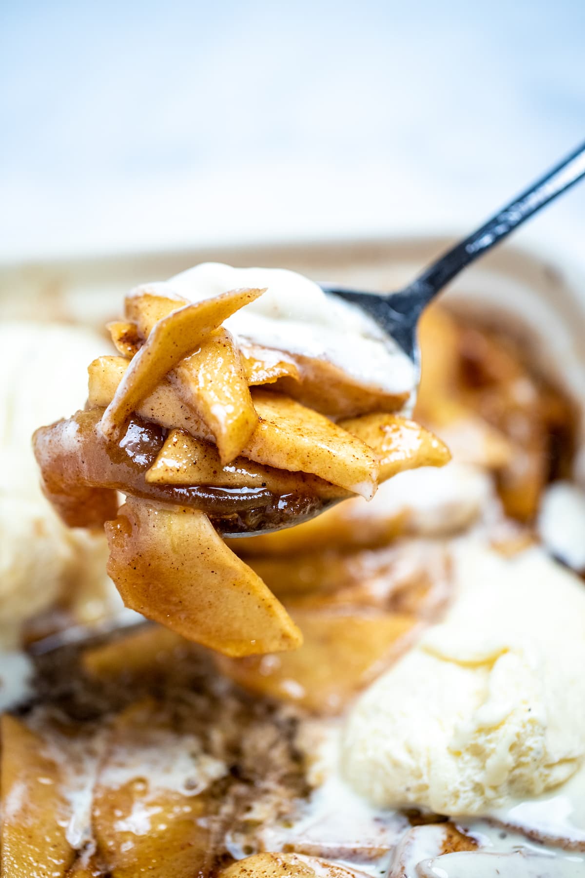
[[181,399],[210,428],[222,464],[238,457],[258,426],[252,396],[232,335],[217,329],[169,375]]

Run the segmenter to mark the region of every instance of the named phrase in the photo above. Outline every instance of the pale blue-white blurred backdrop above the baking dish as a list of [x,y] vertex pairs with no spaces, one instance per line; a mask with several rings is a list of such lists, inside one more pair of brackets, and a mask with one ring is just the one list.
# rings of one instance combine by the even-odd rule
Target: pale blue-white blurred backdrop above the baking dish
[[[461,229],[585,140],[585,0],[0,14],[4,259]],[[585,263],[585,184],[517,240]]]

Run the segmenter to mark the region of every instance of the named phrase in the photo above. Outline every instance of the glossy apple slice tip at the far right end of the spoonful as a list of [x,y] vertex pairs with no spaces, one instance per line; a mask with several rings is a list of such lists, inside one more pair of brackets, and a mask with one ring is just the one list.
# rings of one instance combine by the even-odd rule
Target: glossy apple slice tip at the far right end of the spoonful
[[396,472],[419,466],[443,466],[451,459],[449,450],[437,436],[394,414],[364,414],[341,421],[340,427],[373,448],[380,458],[380,481]]

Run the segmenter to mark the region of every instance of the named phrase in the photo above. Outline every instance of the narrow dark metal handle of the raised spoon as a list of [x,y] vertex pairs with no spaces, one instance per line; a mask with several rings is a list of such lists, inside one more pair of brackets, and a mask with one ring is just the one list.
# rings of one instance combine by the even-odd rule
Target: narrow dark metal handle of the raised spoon
[[496,216],[440,256],[410,286],[416,286],[419,290],[422,287],[428,297],[426,301],[430,301],[469,263],[473,263],[474,259],[503,241],[510,232],[584,175],[585,143],[581,143],[571,155],[567,155],[566,159],[549,170],[545,176],[541,176],[536,183],[510,201]]

